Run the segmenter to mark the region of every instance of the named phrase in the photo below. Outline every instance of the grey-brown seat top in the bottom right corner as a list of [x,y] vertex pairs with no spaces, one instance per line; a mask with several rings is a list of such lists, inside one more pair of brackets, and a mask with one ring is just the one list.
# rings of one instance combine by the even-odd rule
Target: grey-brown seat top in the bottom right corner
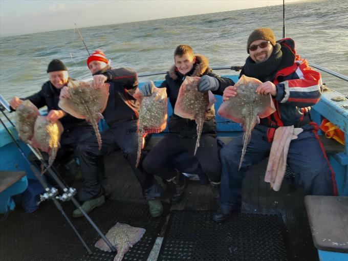
[[348,260],[348,197],[307,195],[305,204],[315,247]]

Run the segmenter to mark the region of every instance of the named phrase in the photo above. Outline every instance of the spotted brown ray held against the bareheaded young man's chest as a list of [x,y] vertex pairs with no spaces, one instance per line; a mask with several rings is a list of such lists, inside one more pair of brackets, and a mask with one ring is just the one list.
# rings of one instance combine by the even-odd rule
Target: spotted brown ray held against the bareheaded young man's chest
[[201,93],[197,89],[199,81],[200,77],[186,76],[180,86],[178,99],[174,108],[174,113],[176,115],[182,118],[195,120],[197,124],[197,142],[194,147],[193,155],[196,154],[197,148],[200,146],[203,124],[207,109],[210,105],[208,92]]

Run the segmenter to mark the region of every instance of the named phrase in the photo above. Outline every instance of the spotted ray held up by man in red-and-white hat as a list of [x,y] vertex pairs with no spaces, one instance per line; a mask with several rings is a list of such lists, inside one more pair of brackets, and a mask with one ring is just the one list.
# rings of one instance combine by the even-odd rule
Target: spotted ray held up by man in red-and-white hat
[[98,129],[98,121],[103,118],[101,113],[105,110],[108,99],[108,83],[104,83],[100,89],[93,87],[93,82],[69,81],[68,88],[71,98],[61,98],[58,106],[78,118],[90,122],[97,137],[99,149],[101,149],[101,136]]

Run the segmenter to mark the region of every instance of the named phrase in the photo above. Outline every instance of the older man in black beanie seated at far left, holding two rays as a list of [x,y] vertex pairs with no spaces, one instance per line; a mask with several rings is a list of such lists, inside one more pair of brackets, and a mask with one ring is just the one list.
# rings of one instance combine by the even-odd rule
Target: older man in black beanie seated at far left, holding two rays
[[[61,60],[54,59],[49,63],[47,73],[50,80],[42,85],[39,92],[24,99],[13,97],[10,101],[10,105],[13,110],[16,110],[17,106],[21,104],[23,100],[30,100],[38,108],[47,106],[48,114],[46,117],[49,121],[55,122],[59,120],[62,123],[64,132],[60,138],[61,147],[58,150],[54,166],[59,168],[61,170],[60,172],[66,172],[68,175],[69,170],[64,166],[66,165],[66,161],[69,160],[67,155],[69,155],[69,153],[71,155],[72,151],[75,151],[77,144],[81,140],[92,136],[94,130],[85,120],[77,119],[58,107],[60,90],[63,86],[66,86],[70,80],[68,69],[65,64]],[[63,155],[64,157],[62,157]],[[69,173],[69,175],[71,175],[71,173]]]

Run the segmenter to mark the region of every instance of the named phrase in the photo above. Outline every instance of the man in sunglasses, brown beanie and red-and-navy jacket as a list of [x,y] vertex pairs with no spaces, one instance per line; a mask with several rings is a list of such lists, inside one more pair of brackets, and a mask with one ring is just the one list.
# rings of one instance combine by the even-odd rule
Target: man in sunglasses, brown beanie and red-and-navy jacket
[[[279,126],[302,128],[303,132],[290,143],[287,163],[295,172],[296,185],[305,194],[337,194],[335,174],[318,139],[318,126],[310,117],[311,106],[321,95],[321,76],[294,50],[290,38],[275,41],[269,28],[254,30],[247,42],[246,59],[241,76],[257,78],[256,93],[271,94],[276,111],[260,119],[252,130],[244,161],[240,169],[243,136],[237,137],[221,150],[221,205],[213,220],[223,222],[240,209],[242,181],[247,170],[270,154],[274,132]],[[235,87],[225,89],[223,99],[236,95]]]

